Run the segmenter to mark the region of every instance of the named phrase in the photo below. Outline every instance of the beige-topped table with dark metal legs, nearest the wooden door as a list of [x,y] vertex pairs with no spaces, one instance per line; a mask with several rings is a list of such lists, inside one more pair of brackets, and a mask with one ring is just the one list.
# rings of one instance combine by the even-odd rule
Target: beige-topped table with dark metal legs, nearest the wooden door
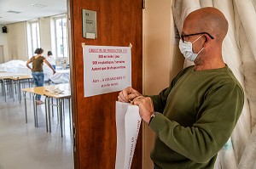
[[[60,89],[63,93],[52,93],[55,89]],[[46,119],[46,131],[48,132],[48,125],[49,125],[49,132],[51,132],[51,123],[50,123],[50,109],[49,106],[56,106],[60,109],[60,126],[61,126],[61,137],[63,136],[63,129],[62,129],[62,113],[64,114],[64,99],[68,99],[69,101],[69,119],[70,119],[70,126],[71,126],[71,112],[70,112],[70,99],[71,99],[71,92],[70,92],[70,85],[69,83],[61,83],[57,85],[51,86],[44,86],[44,87],[30,87],[30,88],[23,88],[22,89],[25,98],[25,111],[26,111],[26,93],[32,93],[33,97],[33,110],[34,110],[34,121],[35,127],[38,127],[38,109],[36,105],[36,94],[44,95],[44,103],[45,103],[45,119]],[[49,99],[56,99],[57,103],[53,104],[49,102]],[[27,122],[27,113],[26,113],[26,122]]]

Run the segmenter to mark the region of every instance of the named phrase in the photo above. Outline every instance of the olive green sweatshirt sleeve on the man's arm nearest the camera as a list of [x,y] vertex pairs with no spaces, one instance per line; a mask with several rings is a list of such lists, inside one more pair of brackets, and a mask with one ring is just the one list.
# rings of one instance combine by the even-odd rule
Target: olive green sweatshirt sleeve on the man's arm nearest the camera
[[207,93],[193,126],[183,127],[156,113],[149,127],[170,149],[203,163],[216,155],[230,138],[243,102],[241,87],[226,84]]

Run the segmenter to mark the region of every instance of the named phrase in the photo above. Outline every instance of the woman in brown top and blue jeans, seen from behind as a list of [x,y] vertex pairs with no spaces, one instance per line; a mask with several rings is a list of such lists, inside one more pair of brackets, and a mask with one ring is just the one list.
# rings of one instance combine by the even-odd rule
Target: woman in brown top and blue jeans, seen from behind
[[[33,81],[35,82],[36,87],[43,87],[44,86],[44,71],[43,71],[43,65],[44,63],[50,67],[50,69],[53,70],[53,73],[55,74],[55,69],[52,67],[52,65],[49,64],[49,62],[42,56],[44,53],[43,48],[37,48],[35,50],[35,56],[33,56],[31,59],[27,60],[26,67],[28,67],[30,70],[32,70],[32,77]],[[32,68],[29,65],[32,63]],[[44,104],[43,101],[40,100],[41,95],[36,95],[36,104]]]

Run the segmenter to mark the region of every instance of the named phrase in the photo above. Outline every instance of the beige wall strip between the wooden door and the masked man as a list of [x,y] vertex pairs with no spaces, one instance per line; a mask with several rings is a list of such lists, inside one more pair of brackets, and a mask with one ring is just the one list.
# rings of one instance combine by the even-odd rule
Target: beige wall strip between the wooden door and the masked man
[[[147,0],[143,11],[143,93],[158,94],[183,69],[183,56],[174,43],[172,1]],[[150,151],[154,132],[143,124],[143,169],[153,168]]]

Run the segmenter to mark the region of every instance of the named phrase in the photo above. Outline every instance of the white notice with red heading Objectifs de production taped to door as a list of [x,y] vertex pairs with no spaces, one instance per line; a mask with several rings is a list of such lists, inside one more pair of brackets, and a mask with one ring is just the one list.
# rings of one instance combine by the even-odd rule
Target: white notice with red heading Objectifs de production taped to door
[[131,86],[131,47],[84,45],[84,97]]

